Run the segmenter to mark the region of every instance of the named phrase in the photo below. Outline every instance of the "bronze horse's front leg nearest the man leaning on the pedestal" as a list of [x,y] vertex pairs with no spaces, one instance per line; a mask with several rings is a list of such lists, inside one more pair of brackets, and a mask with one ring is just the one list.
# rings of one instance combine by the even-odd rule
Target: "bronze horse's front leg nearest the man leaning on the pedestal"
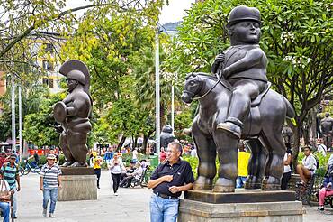
[[202,134],[196,123],[192,126],[192,135],[199,157],[198,177],[193,184],[193,190],[211,190],[212,180],[216,175],[216,145],[212,137]]

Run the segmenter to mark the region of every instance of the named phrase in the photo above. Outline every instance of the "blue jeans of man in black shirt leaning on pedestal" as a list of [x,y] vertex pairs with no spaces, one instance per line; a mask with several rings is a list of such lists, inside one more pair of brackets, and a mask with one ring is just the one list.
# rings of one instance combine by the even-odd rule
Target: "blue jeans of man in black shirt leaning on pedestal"
[[150,198],[150,222],[175,222],[179,199],[162,199],[155,193]]

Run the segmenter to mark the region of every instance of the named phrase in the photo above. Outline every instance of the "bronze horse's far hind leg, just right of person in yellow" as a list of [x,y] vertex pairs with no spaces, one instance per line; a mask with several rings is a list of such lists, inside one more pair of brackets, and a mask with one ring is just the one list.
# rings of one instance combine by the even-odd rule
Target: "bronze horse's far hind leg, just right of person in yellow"
[[247,165],[247,180],[245,189],[259,189],[264,178],[266,153],[263,144],[258,139],[248,140],[248,147],[251,149],[251,156]]

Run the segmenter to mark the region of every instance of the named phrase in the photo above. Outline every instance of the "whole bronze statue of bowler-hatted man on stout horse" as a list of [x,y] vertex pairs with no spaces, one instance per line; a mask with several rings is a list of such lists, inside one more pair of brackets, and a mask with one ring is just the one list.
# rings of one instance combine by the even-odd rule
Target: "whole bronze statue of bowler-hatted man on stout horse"
[[[282,130],[285,117],[293,118],[293,106],[269,89],[267,59],[258,42],[260,14],[257,8],[238,6],[229,14],[231,47],[217,56],[212,72],[192,73],[184,84],[182,100],[199,101],[192,135],[199,166],[194,190],[232,192],[238,177],[239,138],[251,149],[246,189],[280,190],[286,151]],[[220,168],[216,169],[218,154]],[[212,187],[218,171],[219,179]]]

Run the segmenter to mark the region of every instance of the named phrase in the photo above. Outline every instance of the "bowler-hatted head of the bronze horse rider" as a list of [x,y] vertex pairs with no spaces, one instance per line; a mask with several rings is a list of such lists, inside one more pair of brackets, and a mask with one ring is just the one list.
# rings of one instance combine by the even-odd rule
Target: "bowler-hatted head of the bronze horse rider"
[[260,12],[257,8],[245,5],[233,8],[227,23],[231,45],[259,43],[260,25]]

